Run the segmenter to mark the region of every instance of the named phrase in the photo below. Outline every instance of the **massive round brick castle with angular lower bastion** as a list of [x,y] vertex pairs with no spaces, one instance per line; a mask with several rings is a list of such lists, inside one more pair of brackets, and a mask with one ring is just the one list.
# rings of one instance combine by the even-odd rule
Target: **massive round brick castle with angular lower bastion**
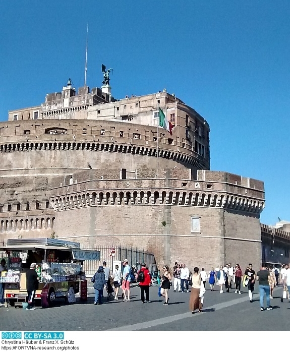
[[[173,126],[158,127],[159,107]],[[210,171],[210,128],[166,90],[71,81],[0,122],[0,239],[139,247],[157,265],[261,261],[261,181]]]

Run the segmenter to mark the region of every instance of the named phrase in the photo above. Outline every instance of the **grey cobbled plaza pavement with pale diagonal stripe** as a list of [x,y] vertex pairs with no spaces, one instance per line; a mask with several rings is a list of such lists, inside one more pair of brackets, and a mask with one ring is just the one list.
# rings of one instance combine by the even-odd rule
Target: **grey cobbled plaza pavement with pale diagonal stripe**
[[[217,286],[216,286],[217,287]],[[218,288],[206,291],[203,313],[189,312],[188,293],[169,291],[169,304],[163,306],[158,287],[150,288],[149,304],[140,301],[139,287],[132,288],[132,301],[110,301],[94,306],[93,289],[88,301],[66,305],[57,301],[53,308],[26,311],[0,308],[0,330],[288,330],[290,304],[280,302],[282,289],[276,288],[271,300],[272,311],[260,311],[258,285],[254,302],[234,290],[219,294]]]

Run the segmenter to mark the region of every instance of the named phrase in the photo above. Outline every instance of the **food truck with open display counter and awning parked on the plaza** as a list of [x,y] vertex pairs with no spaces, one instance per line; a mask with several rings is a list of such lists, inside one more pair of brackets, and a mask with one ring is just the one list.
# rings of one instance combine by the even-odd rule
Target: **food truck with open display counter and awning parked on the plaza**
[[[77,294],[80,283],[86,280],[82,265],[85,260],[99,260],[99,251],[81,250],[77,242],[57,239],[11,239],[0,250],[8,255],[7,270],[2,271],[0,282],[5,283],[4,298],[11,306],[27,301],[26,271],[36,263],[39,287],[35,300],[52,306],[55,299],[68,300],[69,292]],[[43,297],[45,296],[45,300]]]

